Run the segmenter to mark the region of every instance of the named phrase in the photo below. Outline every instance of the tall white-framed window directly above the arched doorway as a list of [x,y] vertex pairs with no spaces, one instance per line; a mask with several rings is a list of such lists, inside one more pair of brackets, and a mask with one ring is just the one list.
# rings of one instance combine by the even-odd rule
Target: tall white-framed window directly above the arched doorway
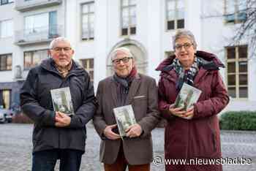
[[136,0],[121,0],[121,35],[136,34]]

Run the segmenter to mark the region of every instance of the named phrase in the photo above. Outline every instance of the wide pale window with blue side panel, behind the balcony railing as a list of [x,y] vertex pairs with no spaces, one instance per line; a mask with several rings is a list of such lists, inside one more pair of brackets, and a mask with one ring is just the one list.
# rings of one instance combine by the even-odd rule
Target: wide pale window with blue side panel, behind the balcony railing
[[[57,37],[57,12],[45,12],[25,17],[24,34],[29,36],[31,39],[37,37]],[[27,38],[29,39],[29,37]]]

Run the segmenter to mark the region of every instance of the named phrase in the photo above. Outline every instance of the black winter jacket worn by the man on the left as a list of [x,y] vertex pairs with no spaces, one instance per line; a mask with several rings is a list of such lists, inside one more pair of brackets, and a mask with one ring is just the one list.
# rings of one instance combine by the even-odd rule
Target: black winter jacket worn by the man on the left
[[[55,112],[50,90],[69,87],[75,115],[69,126],[55,126]],[[23,113],[34,121],[33,152],[53,148],[84,151],[86,123],[96,110],[94,88],[88,73],[73,61],[67,77],[61,77],[51,58],[29,71],[20,90]]]

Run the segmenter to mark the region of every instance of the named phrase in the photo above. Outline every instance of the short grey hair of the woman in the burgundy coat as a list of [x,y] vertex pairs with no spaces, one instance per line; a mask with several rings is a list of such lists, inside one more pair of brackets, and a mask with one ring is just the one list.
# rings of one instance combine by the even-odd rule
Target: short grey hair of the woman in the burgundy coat
[[192,34],[192,32],[189,30],[178,30],[173,36],[173,50],[175,50],[175,44],[177,39],[180,39],[181,37],[187,37],[192,42],[195,50],[197,49],[197,42],[195,42],[194,34]]

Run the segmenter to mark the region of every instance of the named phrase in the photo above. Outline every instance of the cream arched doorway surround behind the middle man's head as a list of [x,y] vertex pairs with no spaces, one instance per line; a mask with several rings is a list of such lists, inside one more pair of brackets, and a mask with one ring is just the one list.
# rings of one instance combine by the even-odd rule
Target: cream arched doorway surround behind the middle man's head
[[148,66],[148,57],[146,54],[146,49],[141,45],[139,42],[132,40],[132,39],[125,39],[122,42],[118,42],[108,53],[108,61],[107,61],[107,75],[113,75],[113,66],[111,61],[111,53],[114,49],[118,47],[128,47],[131,51],[133,56],[135,56],[135,63],[138,69],[138,72],[142,74],[147,73],[147,66]]

